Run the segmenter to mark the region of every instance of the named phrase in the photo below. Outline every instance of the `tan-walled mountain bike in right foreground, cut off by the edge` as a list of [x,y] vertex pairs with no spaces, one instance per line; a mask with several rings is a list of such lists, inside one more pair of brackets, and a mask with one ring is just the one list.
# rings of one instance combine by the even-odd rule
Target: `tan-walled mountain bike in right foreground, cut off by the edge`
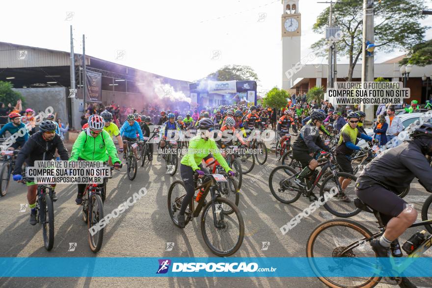
[[[428,200],[432,202],[432,195],[429,196]],[[334,266],[327,266],[325,267],[325,269],[327,271],[338,271],[343,269],[342,266],[339,265],[347,264],[347,262],[344,262],[344,264],[342,264],[342,262],[338,263],[338,259],[356,258],[355,260],[358,261],[351,262],[352,269],[350,267],[351,270],[355,271],[356,267],[370,267],[371,265],[370,262],[365,262],[361,258],[368,257],[369,259],[371,259],[378,257],[378,255],[376,255],[375,252],[372,250],[372,247],[368,244],[372,239],[380,237],[385,232],[385,226],[383,225],[380,213],[377,210],[374,210],[367,206],[360,199],[355,199],[354,203],[358,209],[374,214],[374,216],[378,220],[378,232],[372,233],[365,226],[350,219],[334,219],[326,221],[320,224],[317,228],[315,228],[306,243],[306,256],[309,258],[309,264],[317,274],[317,277],[320,279],[320,281],[322,281],[325,285],[329,287],[369,288],[378,285],[378,283],[382,279],[382,277],[379,275],[379,268],[377,269],[376,274],[369,277],[326,277],[323,276],[323,272],[321,270],[323,269],[323,267],[320,267],[320,265],[317,264],[314,259],[322,257],[332,257],[335,260]],[[425,207],[426,205],[423,205],[423,220],[423,211],[425,210]],[[432,215],[432,210],[430,211],[430,213]],[[425,226],[428,231],[432,233],[431,224],[432,220],[424,220],[412,224],[409,228]],[[414,260],[414,258],[420,257],[422,254],[424,254],[424,252],[428,250],[431,246],[432,235],[426,236],[424,241],[415,250],[413,250],[407,256],[407,258],[401,259],[404,259],[404,261]],[[377,259],[377,265],[378,264],[379,262]],[[397,271],[397,268],[398,266],[395,265],[395,267],[392,267],[392,271]],[[392,281],[392,283],[390,284],[393,285],[401,284],[403,281],[406,284],[407,281],[407,279],[404,279],[404,277],[390,277],[390,280]]]

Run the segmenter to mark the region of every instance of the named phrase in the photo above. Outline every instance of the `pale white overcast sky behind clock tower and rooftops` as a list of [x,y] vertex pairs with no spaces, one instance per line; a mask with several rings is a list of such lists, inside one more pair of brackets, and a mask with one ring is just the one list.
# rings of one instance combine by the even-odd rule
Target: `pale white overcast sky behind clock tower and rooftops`
[[[432,9],[432,0],[425,3]],[[299,2],[302,57],[321,37],[311,28],[326,5]],[[281,0],[23,0],[3,1],[2,11],[1,42],[70,51],[73,25],[76,52],[84,33],[86,54],[165,77],[193,81],[239,64],[257,72],[258,90],[282,83]],[[432,16],[422,24],[432,26]],[[116,51],[125,59],[116,60]],[[378,52],[376,62],[402,53]]]

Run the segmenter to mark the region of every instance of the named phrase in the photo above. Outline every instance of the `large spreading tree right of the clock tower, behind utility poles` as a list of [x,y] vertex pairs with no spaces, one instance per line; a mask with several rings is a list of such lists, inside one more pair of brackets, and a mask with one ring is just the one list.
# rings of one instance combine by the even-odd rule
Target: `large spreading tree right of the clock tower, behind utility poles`
[[[383,0],[376,2],[375,8],[375,52],[391,52],[406,49],[424,39],[428,26],[421,26],[420,19],[426,15],[419,13],[425,9],[423,0]],[[340,56],[348,57],[350,69],[348,81],[352,80],[355,64],[361,59],[363,40],[363,1],[339,0],[333,6],[334,26],[341,28],[342,40],[335,42]],[[325,34],[329,7],[317,18],[313,26],[316,33]],[[325,38],[315,42],[312,49],[320,56],[326,56],[328,43]]]

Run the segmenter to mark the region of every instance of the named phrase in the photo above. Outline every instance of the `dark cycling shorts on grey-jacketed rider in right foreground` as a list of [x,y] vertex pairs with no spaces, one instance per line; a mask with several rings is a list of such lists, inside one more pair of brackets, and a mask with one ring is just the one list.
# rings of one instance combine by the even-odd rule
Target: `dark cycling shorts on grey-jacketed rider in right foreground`
[[354,188],[354,192],[361,201],[384,215],[397,217],[407,205],[404,199],[378,183],[365,189]]

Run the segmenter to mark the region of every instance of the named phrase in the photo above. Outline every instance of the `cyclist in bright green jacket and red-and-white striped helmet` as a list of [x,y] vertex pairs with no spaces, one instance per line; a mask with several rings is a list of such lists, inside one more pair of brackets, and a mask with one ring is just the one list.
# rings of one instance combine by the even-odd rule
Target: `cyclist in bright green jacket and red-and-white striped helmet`
[[[132,115],[133,116],[133,115]],[[88,128],[81,131],[72,147],[69,161],[108,161],[111,157],[114,162],[114,168],[120,168],[120,159],[117,155],[114,142],[112,142],[109,133],[104,130],[105,121],[100,115],[94,114],[88,118]],[[121,134],[121,133],[120,133]],[[84,194],[86,184],[78,184],[78,194],[75,203],[82,204],[82,195]]]

